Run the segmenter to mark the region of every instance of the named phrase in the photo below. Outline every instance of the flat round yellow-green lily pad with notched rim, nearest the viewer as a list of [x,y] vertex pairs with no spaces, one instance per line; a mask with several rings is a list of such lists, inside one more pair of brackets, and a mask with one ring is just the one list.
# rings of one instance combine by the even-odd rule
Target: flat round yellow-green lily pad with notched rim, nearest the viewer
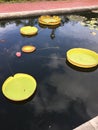
[[28,99],[36,90],[36,80],[24,73],[8,77],[2,86],[4,96],[13,101]]

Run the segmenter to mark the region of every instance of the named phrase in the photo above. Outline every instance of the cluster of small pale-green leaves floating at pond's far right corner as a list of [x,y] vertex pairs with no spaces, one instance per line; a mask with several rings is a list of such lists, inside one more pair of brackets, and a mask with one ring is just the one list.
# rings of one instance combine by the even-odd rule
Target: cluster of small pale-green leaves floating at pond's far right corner
[[98,30],[98,18],[91,18],[90,20],[83,21],[81,25],[87,26],[89,29]]

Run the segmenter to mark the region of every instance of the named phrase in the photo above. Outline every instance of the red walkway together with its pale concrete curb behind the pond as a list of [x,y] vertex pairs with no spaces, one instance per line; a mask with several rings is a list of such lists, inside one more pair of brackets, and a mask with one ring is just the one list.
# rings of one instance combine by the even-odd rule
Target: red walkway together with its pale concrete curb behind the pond
[[0,4],[0,19],[26,15],[65,12],[98,8],[98,0],[37,1],[27,3]]

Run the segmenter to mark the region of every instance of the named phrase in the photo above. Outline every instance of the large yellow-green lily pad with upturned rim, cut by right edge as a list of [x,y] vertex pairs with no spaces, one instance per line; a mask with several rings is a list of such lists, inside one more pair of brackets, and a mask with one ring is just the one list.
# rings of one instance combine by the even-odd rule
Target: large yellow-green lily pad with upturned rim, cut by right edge
[[78,67],[91,68],[98,65],[98,54],[84,48],[73,48],[67,51],[67,60]]

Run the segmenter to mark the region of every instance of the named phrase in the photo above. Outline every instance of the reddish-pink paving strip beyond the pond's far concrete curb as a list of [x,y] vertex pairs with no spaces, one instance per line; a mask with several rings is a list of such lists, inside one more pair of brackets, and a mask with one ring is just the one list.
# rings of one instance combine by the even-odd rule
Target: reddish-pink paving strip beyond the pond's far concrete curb
[[79,7],[98,7],[98,0],[37,1],[13,4],[1,3],[0,14],[21,11],[52,10]]

